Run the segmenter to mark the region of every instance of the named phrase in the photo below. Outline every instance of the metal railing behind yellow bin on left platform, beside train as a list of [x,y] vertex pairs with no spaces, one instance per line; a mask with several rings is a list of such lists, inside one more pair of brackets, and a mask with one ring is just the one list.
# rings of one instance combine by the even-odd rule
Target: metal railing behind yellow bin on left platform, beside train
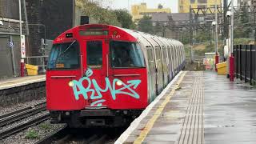
[[46,66],[48,62],[48,56],[32,56],[32,57],[26,57],[25,58],[26,64],[31,64],[39,67],[39,72],[45,73],[46,72]]

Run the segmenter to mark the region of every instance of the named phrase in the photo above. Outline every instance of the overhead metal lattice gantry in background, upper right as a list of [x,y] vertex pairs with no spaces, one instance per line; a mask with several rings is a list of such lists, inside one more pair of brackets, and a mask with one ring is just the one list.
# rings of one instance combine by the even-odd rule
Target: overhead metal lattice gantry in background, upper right
[[[230,3],[231,4],[231,3]],[[218,31],[222,34],[222,39],[229,37],[230,18],[226,17],[226,11],[230,10],[230,4],[225,8],[221,6],[215,7],[190,7],[190,19],[186,21],[170,22],[167,26],[170,30],[189,30],[190,31],[190,46],[191,46],[191,62],[193,62],[193,34],[198,30],[210,30],[211,24],[215,19],[217,13]],[[234,6],[234,21],[242,18],[242,14],[248,14],[248,23],[252,27],[256,27],[256,6]],[[181,31],[179,31],[180,33]],[[255,32],[256,33],[256,32]],[[256,36],[255,36],[256,37]]]

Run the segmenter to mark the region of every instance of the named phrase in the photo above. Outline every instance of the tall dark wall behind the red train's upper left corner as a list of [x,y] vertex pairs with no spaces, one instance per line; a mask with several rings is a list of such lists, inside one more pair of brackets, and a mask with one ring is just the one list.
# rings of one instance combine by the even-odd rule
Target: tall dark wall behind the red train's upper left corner
[[[29,24],[46,26],[46,39],[54,39],[74,26],[74,0],[26,0]],[[29,26],[30,49],[33,56],[41,55],[38,48],[44,38],[43,26]]]

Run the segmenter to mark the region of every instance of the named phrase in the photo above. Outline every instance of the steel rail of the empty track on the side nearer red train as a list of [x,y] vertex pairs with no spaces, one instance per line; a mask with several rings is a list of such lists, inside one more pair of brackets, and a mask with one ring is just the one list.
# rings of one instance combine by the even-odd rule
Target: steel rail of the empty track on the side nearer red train
[[46,113],[39,114],[35,118],[30,118],[29,120],[26,120],[24,122],[20,122],[20,123],[14,125],[14,126],[11,126],[7,129],[0,130],[0,139],[6,138],[6,137],[10,136],[11,134],[15,134],[15,133],[17,133],[21,130],[24,130],[24,129],[30,127],[30,126],[34,126],[34,125],[37,125],[38,123],[44,122],[48,118],[50,118],[50,114],[47,111]]

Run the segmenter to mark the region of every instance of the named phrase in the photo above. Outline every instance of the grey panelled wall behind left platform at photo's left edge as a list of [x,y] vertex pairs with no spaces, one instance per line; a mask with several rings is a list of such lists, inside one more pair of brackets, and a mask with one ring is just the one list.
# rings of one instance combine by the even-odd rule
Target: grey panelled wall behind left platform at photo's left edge
[[[24,11],[22,9],[22,11]],[[24,16],[24,14],[22,14]],[[20,74],[20,37],[18,24],[18,0],[0,0],[0,79],[14,76],[12,55],[9,47],[10,37],[14,42],[14,63],[16,74]]]

